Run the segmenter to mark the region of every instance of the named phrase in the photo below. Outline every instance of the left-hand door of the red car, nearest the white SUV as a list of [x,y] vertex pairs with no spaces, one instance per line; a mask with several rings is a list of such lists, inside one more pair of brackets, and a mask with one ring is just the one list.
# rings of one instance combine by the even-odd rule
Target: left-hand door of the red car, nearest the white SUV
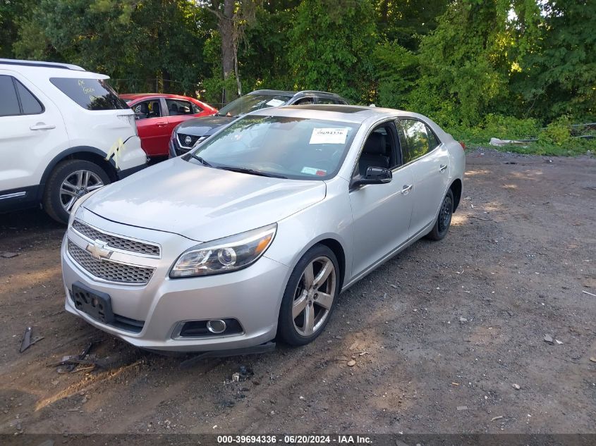
[[141,147],[149,156],[166,156],[171,130],[164,113],[165,101],[161,98],[145,99],[132,106],[137,119]]

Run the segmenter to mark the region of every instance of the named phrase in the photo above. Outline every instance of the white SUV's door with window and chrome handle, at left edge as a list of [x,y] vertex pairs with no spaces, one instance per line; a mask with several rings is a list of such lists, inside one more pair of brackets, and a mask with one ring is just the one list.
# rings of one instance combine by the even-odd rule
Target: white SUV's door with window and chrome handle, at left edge
[[54,103],[18,73],[0,70],[0,98],[0,199],[10,190],[19,201],[35,200],[33,189],[46,168],[39,164],[67,147],[64,121]]

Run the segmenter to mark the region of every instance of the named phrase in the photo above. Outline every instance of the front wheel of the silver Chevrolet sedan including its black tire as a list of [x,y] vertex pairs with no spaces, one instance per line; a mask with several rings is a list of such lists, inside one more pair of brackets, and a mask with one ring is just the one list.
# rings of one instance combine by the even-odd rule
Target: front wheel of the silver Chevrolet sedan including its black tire
[[[324,268],[332,267],[332,270],[317,287],[308,278],[308,267],[312,267],[310,271],[314,280]],[[281,340],[289,345],[305,345],[322,333],[339,296],[339,274],[335,254],[323,244],[315,244],[302,256],[290,275],[281,300],[277,324],[277,335]],[[300,309],[302,311],[298,312]]]

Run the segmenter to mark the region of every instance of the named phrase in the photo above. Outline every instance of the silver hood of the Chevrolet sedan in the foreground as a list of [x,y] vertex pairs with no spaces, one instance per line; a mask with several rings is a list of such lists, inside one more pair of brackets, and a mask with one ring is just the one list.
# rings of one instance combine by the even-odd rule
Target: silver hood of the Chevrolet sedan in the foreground
[[260,228],[325,197],[317,180],[222,171],[170,159],[114,182],[83,207],[108,220],[207,242]]

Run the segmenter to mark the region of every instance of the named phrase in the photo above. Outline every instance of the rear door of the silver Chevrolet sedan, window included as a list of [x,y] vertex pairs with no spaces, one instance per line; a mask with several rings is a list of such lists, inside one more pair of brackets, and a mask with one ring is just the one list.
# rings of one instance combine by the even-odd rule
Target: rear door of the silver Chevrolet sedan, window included
[[398,126],[404,151],[404,163],[410,164],[415,178],[415,199],[410,236],[434,222],[439,204],[449,185],[449,152],[430,127],[416,118],[400,118]]

